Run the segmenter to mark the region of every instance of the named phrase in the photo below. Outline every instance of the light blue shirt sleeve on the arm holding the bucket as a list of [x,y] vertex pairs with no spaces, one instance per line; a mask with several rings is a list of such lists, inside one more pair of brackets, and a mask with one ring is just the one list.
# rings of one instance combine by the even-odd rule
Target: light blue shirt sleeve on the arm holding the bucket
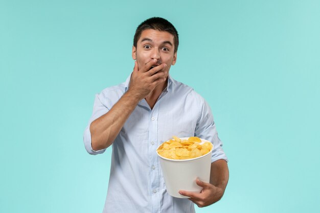
[[222,149],[222,142],[218,137],[210,106],[204,99],[202,99],[200,107],[201,110],[195,129],[195,136],[209,140],[213,144],[211,162],[219,159],[224,159],[228,162],[228,158]]

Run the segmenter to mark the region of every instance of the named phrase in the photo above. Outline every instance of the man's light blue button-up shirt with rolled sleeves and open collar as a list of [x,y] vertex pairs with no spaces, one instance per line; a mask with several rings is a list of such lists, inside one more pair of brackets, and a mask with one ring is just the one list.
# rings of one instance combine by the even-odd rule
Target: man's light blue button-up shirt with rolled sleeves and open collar
[[[107,113],[128,90],[126,82],[104,89],[96,95],[93,114],[84,131],[84,146],[89,154],[101,154],[91,145],[90,124]],[[194,203],[167,193],[156,148],[172,136],[212,141],[211,161],[227,157],[222,150],[209,105],[191,87],[170,76],[168,86],[153,109],[145,99],[129,116],[112,144],[111,170],[103,212],[110,213],[191,213]]]

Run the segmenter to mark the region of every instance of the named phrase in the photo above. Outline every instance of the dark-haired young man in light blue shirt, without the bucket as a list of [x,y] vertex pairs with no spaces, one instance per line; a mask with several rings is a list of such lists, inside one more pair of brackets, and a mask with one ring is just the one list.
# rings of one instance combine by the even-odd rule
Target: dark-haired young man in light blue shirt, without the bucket
[[[84,132],[89,154],[112,145],[111,171],[103,212],[195,212],[221,199],[227,181],[227,158],[208,104],[189,86],[169,75],[177,59],[178,33],[163,18],[145,20],[136,29],[132,74],[96,95]],[[210,183],[197,180],[201,193],[180,191],[171,197],[156,148],[173,135],[212,141]]]

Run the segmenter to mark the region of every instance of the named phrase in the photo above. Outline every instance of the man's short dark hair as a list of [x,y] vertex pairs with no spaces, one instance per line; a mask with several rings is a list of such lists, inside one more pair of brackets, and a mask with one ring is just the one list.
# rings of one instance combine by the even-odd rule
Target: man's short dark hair
[[135,30],[135,34],[133,37],[133,46],[136,48],[136,43],[141,36],[142,31],[144,30],[158,30],[158,31],[166,31],[173,35],[173,42],[174,42],[174,53],[178,51],[179,45],[179,35],[175,27],[170,23],[168,20],[161,18],[161,17],[152,17],[148,18],[147,20],[143,21],[138,28]]

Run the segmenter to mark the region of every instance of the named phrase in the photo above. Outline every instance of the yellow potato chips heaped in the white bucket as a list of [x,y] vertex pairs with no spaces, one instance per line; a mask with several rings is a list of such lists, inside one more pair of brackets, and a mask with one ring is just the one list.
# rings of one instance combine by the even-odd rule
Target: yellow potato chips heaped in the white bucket
[[199,137],[189,137],[186,140],[173,136],[173,139],[165,141],[158,149],[159,155],[169,159],[191,159],[207,154],[212,149],[212,144],[201,144]]

